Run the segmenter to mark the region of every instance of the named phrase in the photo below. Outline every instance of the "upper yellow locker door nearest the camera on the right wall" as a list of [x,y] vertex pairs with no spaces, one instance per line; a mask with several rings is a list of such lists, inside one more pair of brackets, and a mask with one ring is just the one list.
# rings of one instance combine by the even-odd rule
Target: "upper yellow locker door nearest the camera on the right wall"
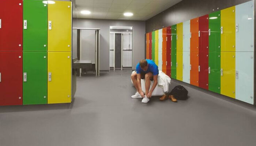
[[221,51],[236,51],[236,7],[221,10]]

